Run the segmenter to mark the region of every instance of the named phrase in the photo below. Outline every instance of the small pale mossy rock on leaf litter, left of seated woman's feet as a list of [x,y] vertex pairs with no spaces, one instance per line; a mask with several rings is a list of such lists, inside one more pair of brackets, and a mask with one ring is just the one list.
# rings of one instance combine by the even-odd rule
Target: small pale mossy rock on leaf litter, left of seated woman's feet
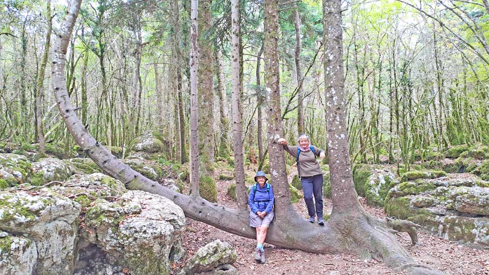
[[232,264],[237,254],[227,242],[215,240],[200,248],[197,253],[187,261],[180,275],[194,274],[209,271],[223,264]]

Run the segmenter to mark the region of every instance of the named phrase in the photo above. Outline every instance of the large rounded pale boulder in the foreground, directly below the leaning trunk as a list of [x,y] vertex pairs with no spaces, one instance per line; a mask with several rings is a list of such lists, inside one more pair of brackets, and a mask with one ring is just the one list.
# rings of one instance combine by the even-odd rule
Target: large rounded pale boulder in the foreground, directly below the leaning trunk
[[[168,274],[170,262],[183,254],[183,210],[158,195],[127,191],[113,202],[97,199],[87,209],[84,226],[82,237],[96,244],[115,269],[128,268],[131,274]],[[92,269],[87,261],[76,272]]]

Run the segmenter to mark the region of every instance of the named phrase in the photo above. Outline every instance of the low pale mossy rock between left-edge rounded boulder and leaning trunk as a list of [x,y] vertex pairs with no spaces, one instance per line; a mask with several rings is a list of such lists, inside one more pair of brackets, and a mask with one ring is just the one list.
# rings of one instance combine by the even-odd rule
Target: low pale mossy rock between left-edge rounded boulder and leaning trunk
[[50,181],[65,181],[73,174],[70,167],[57,158],[43,158],[32,163],[33,185],[42,185]]

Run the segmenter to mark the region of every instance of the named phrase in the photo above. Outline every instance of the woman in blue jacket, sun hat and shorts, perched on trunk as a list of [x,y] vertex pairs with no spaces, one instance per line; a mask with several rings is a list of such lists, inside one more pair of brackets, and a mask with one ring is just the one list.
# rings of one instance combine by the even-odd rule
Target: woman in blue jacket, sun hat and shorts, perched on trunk
[[251,187],[250,196],[248,196],[248,205],[251,209],[250,226],[256,228],[255,260],[259,263],[265,263],[263,243],[266,238],[266,230],[275,216],[274,189],[266,183],[267,180],[265,173],[258,171],[255,176],[256,183]]

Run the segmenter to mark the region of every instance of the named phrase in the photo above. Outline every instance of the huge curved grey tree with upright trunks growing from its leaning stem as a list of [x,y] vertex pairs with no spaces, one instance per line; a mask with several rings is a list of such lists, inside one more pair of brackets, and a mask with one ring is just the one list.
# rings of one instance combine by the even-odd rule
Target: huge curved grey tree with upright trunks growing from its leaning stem
[[[333,45],[335,45],[334,50],[336,53],[339,53],[339,56],[335,54],[335,67],[332,68],[334,72],[333,75],[336,76],[333,79],[333,84],[335,85],[335,88],[339,89],[338,92],[340,93],[340,97],[336,101],[338,105],[335,105],[334,109],[336,112],[343,114],[338,114],[338,118],[341,118],[341,116],[344,118],[344,102],[341,103],[342,100],[344,100],[343,84],[340,80],[338,80],[342,79],[343,77],[343,67],[341,62],[337,63],[338,60],[341,61],[341,15],[339,0],[336,1],[334,2],[335,6],[333,6],[333,8],[329,8],[332,4],[329,2],[329,0],[325,1],[325,4],[327,4],[325,7],[327,7],[327,10],[329,11],[329,16],[335,15],[335,20],[330,22],[334,24],[329,25],[329,28],[334,31],[333,34],[335,35],[332,35],[331,39],[328,39],[328,41],[330,41],[329,43],[333,43]],[[192,1],[193,13],[191,19],[193,24],[191,32],[191,57],[196,57],[195,54],[197,53],[197,16],[195,14],[196,12],[194,12],[197,8],[196,2],[196,0]],[[147,179],[140,173],[132,170],[127,164],[124,164],[119,159],[115,158],[105,149],[105,147],[101,146],[93,138],[90,132],[80,122],[74,112],[74,107],[70,102],[70,98],[66,90],[66,83],[64,82],[66,49],[68,47],[69,37],[73,30],[73,25],[78,15],[80,4],[81,0],[73,1],[70,4],[68,12],[65,15],[65,19],[61,24],[56,41],[55,52],[53,54],[51,72],[52,87],[54,89],[58,109],[76,143],[85,152],[87,152],[90,158],[92,158],[105,173],[118,180],[121,180],[128,189],[143,190],[149,193],[164,196],[172,200],[175,204],[179,205],[183,209],[185,216],[188,218],[204,222],[236,235],[255,238],[255,230],[248,225],[249,214],[247,212],[229,209],[209,203],[208,201],[200,198],[198,191],[193,191],[192,196],[185,196],[169,188],[161,186],[157,182]],[[274,104],[269,105],[269,107],[275,106],[279,102],[278,99],[280,96],[278,90],[279,74],[277,38],[275,38],[278,34],[277,6],[277,0],[274,0],[273,2],[265,2],[265,25],[268,25],[265,29],[265,67],[271,69],[271,71],[266,70],[266,91],[268,95],[271,96],[269,104]],[[268,50],[271,51],[271,53],[267,52]],[[197,61],[194,58],[191,59],[191,73],[193,76],[196,76],[197,74],[195,68],[197,65],[196,62]],[[338,67],[336,67],[336,64],[338,64]],[[336,86],[338,84],[339,86]],[[196,86],[193,88],[193,91],[196,91]],[[332,93],[331,90],[330,93]],[[330,98],[330,100],[332,99]],[[195,99],[194,104],[194,106],[196,106]],[[332,178],[333,193],[337,194],[337,197],[345,196],[344,200],[354,199],[354,202],[343,203],[342,205],[346,207],[346,209],[343,211],[338,207],[339,199],[334,200],[333,203],[336,204],[336,207],[334,207],[332,219],[322,227],[317,226],[316,224],[311,224],[306,219],[301,218],[290,204],[287,178],[284,173],[284,152],[282,147],[275,143],[282,131],[280,114],[279,109],[277,110],[275,117],[270,118],[271,122],[269,129],[271,130],[268,132],[268,143],[270,145],[271,156],[271,178],[273,179],[274,186],[276,186],[277,190],[277,219],[268,229],[266,242],[279,245],[284,248],[301,249],[315,253],[341,253],[346,251],[359,252],[359,248],[363,248],[364,250],[362,250],[362,252],[368,251],[372,253],[372,256],[379,256],[378,258],[386,260],[390,266],[398,267],[400,269],[407,269],[411,274],[440,274],[438,271],[431,271],[415,264],[414,261],[406,255],[405,251],[395,242],[394,236],[390,233],[386,233],[385,230],[382,230],[385,223],[377,221],[376,219],[366,215],[365,212],[361,211],[356,196],[347,194],[351,193],[351,190],[354,190],[351,177],[349,177],[349,180],[342,180],[342,178],[338,175],[338,172],[344,171],[339,171],[339,169],[335,169],[334,172],[332,171],[332,174],[334,174],[334,177]],[[192,115],[194,114],[191,114],[191,116]],[[342,123],[344,124],[344,122]],[[196,124],[197,123],[194,124],[195,128],[193,129],[196,129]],[[341,131],[345,133],[346,128],[343,127]],[[339,131],[339,133],[341,131]],[[192,139],[194,141],[193,149],[196,149],[197,136],[193,135]],[[343,160],[344,158],[347,159],[347,147],[345,147],[346,149],[339,147],[344,146],[345,141],[346,138],[340,139],[339,137],[332,140],[332,142],[334,142],[338,147],[335,147],[333,152],[339,154],[339,157],[330,158],[330,161],[340,159]],[[331,149],[332,148],[330,148],[330,152]],[[193,151],[193,153],[195,152],[196,151]],[[193,165],[193,168],[194,167],[195,165]],[[349,162],[347,162],[347,160],[340,163],[339,167],[342,169],[348,169],[349,172],[346,171],[346,173],[351,174]],[[193,180],[195,180],[194,177],[198,175],[192,176]],[[193,184],[193,187],[196,187],[195,182],[193,182]],[[352,219],[341,219],[341,216],[345,218],[351,217]],[[345,221],[348,222],[346,223]],[[354,225],[363,226],[362,228],[364,228],[365,231],[344,231],[345,229],[354,229],[351,228]],[[382,246],[384,250],[379,250],[380,246]],[[379,251],[385,252],[379,253]],[[395,253],[397,253],[397,255],[395,255]]]

